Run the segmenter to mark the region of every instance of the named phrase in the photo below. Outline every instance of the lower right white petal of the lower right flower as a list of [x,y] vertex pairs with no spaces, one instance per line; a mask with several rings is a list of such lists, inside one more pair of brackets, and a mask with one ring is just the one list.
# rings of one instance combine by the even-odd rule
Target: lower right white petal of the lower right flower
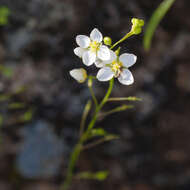
[[130,85],[134,82],[132,73],[128,69],[123,69],[118,80],[121,84]]

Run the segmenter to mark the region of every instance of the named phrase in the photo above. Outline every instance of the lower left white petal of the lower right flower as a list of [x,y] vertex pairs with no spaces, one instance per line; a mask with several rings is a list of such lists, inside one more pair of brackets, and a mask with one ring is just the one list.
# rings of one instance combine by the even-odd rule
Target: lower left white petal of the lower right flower
[[110,67],[103,67],[102,69],[98,71],[96,77],[99,81],[108,81],[112,79],[113,76],[114,76],[114,73]]

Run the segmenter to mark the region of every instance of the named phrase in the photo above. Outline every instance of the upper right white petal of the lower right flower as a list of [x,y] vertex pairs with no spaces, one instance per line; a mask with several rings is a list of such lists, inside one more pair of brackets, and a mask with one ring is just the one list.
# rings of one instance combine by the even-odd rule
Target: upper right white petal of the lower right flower
[[136,60],[137,60],[137,56],[130,53],[124,53],[119,56],[119,61],[121,61],[123,63],[123,66],[127,68],[134,65]]

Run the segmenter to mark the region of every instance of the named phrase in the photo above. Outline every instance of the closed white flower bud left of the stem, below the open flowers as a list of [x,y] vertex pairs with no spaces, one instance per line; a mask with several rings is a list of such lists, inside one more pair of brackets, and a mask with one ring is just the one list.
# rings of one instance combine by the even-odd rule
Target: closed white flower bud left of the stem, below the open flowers
[[73,69],[70,72],[70,75],[77,80],[79,83],[85,82],[87,79],[87,72],[85,69],[80,68],[80,69]]

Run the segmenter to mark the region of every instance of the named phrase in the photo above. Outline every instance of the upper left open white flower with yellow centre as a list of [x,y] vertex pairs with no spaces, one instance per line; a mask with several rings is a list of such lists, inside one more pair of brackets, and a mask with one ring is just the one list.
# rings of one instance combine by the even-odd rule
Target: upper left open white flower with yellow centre
[[78,35],[76,42],[79,47],[74,49],[75,55],[82,58],[85,65],[90,66],[97,59],[106,61],[110,59],[110,50],[102,45],[103,36],[98,29],[93,29],[90,38],[85,35]]

